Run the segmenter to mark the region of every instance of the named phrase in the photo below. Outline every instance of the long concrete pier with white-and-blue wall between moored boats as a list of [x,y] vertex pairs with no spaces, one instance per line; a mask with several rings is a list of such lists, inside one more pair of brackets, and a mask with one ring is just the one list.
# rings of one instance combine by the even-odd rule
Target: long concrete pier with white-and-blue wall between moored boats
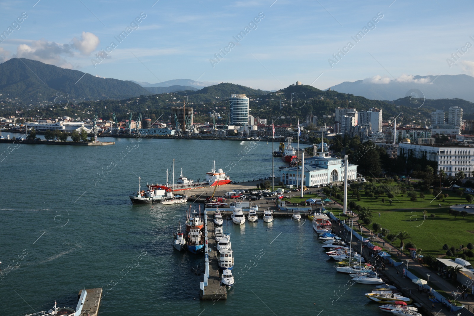
[[[200,284],[201,299],[227,299],[227,290],[225,286],[220,284],[219,264],[217,262],[217,250],[213,245],[214,239],[214,224],[208,226],[208,218],[204,212],[204,260],[206,271],[204,272],[204,280]],[[211,246],[212,245],[212,246]]]

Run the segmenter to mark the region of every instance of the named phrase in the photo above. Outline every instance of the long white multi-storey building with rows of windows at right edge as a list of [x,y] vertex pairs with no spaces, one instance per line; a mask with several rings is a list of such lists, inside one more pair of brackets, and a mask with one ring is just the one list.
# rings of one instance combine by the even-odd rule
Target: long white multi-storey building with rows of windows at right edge
[[400,143],[398,157],[414,158],[433,161],[438,164],[438,171],[443,170],[448,176],[454,176],[463,171],[466,177],[472,177],[474,172],[474,147],[465,146],[433,146]]

